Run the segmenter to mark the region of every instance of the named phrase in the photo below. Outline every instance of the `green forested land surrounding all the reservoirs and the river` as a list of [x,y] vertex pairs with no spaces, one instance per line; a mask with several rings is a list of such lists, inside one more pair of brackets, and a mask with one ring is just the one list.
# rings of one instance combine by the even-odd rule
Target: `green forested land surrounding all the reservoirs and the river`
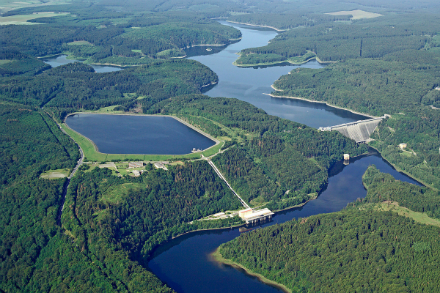
[[[431,2],[425,5],[435,8]],[[173,292],[147,267],[158,245],[190,231],[243,224],[237,216],[207,220],[242,206],[195,157],[172,160],[168,170],[147,162],[139,177],[86,157],[71,180],[47,179],[51,172],[70,174],[80,159],[78,145],[60,128],[70,113],[178,117],[222,142],[210,159],[246,202],[274,211],[316,198],[344,154],[368,151],[338,132],[203,95],[218,76],[183,58],[185,50],[241,38],[216,19],[284,31],[265,47],[242,51],[236,65],[336,62],[292,71],[274,83],[273,95],[391,114],[371,146],[426,185],[370,167],[365,199],[338,213],[242,234],[221,246],[222,257],[298,292],[438,288],[435,16],[405,14],[407,2],[372,5],[382,16],[370,19],[327,14],[361,6],[338,1],[20,3],[6,3],[0,17],[6,23],[33,15],[31,25],[0,26],[1,291]],[[48,11],[55,14],[34,15]],[[42,61],[60,54],[83,62],[51,68]],[[98,74],[89,64],[124,69]]]

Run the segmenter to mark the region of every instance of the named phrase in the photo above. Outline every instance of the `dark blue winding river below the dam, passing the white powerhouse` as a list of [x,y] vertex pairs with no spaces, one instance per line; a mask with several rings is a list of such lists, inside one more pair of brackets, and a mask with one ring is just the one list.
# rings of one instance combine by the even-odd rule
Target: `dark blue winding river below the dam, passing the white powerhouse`
[[[277,213],[273,221],[260,227],[281,224],[292,219],[337,212],[357,198],[364,198],[366,190],[362,175],[371,164],[396,179],[418,184],[397,172],[380,155],[374,154],[351,160],[348,166],[339,163],[330,174],[328,187],[317,199],[305,206]],[[242,270],[218,264],[210,253],[220,244],[239,236],[238,228],[222,231],[196,232],[162,245],[149,262],[150,270],[177,292],[281,292],[280,289],[260,282]]]

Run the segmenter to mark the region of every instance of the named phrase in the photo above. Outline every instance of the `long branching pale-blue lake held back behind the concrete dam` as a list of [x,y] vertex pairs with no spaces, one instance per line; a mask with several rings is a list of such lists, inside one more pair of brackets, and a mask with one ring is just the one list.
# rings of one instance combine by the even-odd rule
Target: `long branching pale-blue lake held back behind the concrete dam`
[[[287,64],[270,67],[237,67],[232,63],[239,57],[238,53],[241,50],[265,46],[277,35],[277,32],[269,29],[258,29],[255,27],[230,24],[223,21],[220,23],[239,29],[242,33],[242,39],[237,43],[227,46],[219,53],[190,58],[205,64],[211,68],[212,71],[217,73],[219,77],[219,83],[207,91],[205,93],[206,95],[211,97],[237,98],[263,109],[270,115],[303,123],[314,128],[343,124],[367,118],[321,103],[272,98],[265,95],[273,91],[270,86],[280,78],[281,75],[285,75],[295,68],[319,69],[324,66],[317,61],[310,61],[297,66]],[[198,47],[187,50],[189,56],[198,52],[200,52],[200,48]]]

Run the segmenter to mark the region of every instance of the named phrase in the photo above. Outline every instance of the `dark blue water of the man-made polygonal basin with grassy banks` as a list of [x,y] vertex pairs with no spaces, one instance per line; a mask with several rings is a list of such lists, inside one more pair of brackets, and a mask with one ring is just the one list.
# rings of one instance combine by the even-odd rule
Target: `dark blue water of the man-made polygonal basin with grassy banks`
[[172,117],[81,113],[66,123],[106,154],[182,155],[215,144]]

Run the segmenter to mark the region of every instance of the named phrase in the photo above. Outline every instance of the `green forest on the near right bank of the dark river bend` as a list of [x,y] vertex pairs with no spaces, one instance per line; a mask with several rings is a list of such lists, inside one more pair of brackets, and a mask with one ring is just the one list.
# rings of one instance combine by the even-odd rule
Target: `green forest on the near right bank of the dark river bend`
[[220,246],[221,256],[292,292],[435,292],[438,227],[377,204],[398,205],[438,218],[438,193],[394,180],[371,166],[368,194],[341,212],[315,215],[243,233]]

